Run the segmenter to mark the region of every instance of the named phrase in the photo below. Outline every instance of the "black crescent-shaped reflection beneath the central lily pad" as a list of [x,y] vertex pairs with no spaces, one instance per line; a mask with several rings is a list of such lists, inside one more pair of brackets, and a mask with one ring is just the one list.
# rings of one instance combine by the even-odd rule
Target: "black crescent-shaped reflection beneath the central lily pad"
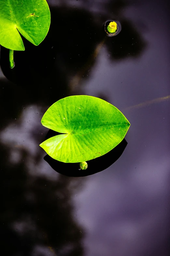
[[[58,134],[59,133],[50,131],[47,138],[50,138],[50,135],[55,136]],[[51,158],[49,155],[46,155],[44,157],[44,160],[48,162],[50,166],[58,173],[61,173],[69,177],[85,177],[101,172],[108,168],[110,165],[112,165],[114,162],[116,162],[125,150],[126,145],[127,142],[125,139],[123,139],[119,145],[117,145],[107,154],[88,161],[88,168],[86,170],[80,170],[79,163],[60,162]]]

